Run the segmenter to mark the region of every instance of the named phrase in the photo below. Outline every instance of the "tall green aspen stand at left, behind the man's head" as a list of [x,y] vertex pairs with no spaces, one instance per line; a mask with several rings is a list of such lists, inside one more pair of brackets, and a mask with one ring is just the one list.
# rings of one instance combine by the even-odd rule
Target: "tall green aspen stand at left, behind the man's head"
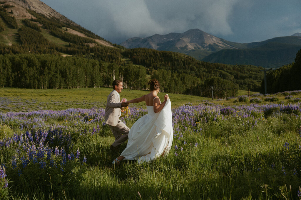
[[0,55],[0,86],[35,89],[111,87],[122,79],[126,88],[146,89],[144,67],[119,66],[79,56]]

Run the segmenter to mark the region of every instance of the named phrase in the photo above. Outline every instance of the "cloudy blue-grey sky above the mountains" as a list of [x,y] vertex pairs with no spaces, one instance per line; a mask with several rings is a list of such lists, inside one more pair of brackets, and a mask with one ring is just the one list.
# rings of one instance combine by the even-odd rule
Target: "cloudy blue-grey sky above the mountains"
[[200,29],[249,43],[301,32],[300,0],[42,0],[112,43]]

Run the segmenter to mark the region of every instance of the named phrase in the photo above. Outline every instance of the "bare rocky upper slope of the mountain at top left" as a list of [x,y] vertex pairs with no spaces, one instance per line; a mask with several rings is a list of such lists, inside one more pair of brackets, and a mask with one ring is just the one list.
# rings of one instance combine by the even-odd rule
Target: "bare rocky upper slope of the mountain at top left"
[[[14,17],[16,20],[16,23],[18,24],[18,27],[24,26],[23,20],[25,19],[33,19],[36,20],[36,17],[29,11],[33,11],[38,14],[42,14],[46,18],[48,17],[50,20],[56,21],[56,23],[60,23],[62,27],[64,27],[64,30],[67,30],[68,33],[84,37],[84,38],[91,38],[95,41],[94,44],[89,44],[90,46],[95,45],[104,45],[113,47],[113,44],[104,40],[103,38],[95,35],[94,33],[84,29],[80,25],[76,24],[72,20],[69,20],[64,15],[58,13],[45,3],[39,1],[39,0],[9,0],[9,1],[1,1],[0,7],[2,7],[2,11],[5,11],[5,13],[9,17]],[[19,44],[20,41],[18,39],[18,31],[17,29],[12,29],[11,26],[8,25],[8,23],[5,21],[3,17],[0,17],[0,24],[4,27],[3,30],[0,32],[0,44]],[[54,43],[64,43],[63,41],[57,38],[57,36],[54,36],[53,34],[49,34],[50,30],[45,28],[43,23],[38,23],[38,26],[42,28],[42,34],[45,38],[50,40]],[[43,31],[45,29],[45,31]]]

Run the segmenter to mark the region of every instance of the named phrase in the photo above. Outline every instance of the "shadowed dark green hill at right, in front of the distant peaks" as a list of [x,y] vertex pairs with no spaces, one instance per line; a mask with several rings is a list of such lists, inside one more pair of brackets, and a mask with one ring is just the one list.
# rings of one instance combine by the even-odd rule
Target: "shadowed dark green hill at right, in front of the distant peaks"
[[230,65],[256,65],[277,68],[294,62],[296,53],[301,49],[301,38],[287,36],[254,42],[244,49],[225,49],[212,53],[203,61]]

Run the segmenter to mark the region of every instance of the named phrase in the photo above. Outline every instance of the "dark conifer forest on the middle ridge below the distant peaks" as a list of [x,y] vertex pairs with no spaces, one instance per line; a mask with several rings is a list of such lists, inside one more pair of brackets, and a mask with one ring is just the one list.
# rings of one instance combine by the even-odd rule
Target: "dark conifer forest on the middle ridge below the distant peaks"
[[[263,78],[263,68],[252,65],[225,65],[198,61],[191,56],[169,51],[157,51],[146,48],[127,49],[123,56],[131,58],[137,65],[143,65],[152,70],[163,69],[171,74],[184,73],[199,78],[204,82],[212,77],[221,77],[237,84],[239,89],[260,91]],[[150,72],[151,73],[151,72]]]

